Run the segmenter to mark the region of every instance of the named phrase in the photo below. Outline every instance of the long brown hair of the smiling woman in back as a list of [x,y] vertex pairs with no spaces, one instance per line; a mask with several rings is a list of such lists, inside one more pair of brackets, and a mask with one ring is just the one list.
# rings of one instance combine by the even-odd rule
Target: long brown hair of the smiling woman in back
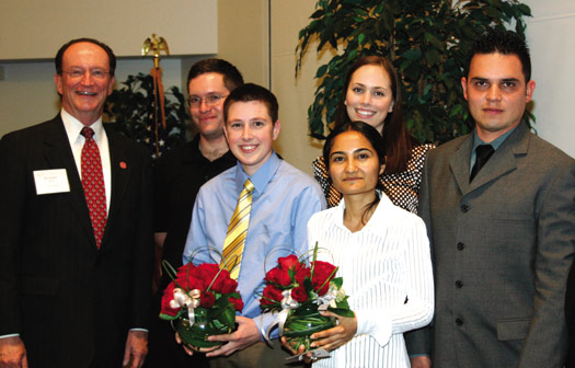
[[345,106],[347,89],[349,88],[349,82],[352,81],[352,76],[354,72],[357,69],[368,65],[381,67],[388,73],[391,81],[393,111],[386,117],[386,123],[383,126],[383,147],[386,149],[386,156],[388,157],[386,173],[393,174],[402,172],[407,169],[407,161],[410,161],[411,151],[415,139],[412,138],[407,131],[407,128],[405,127],[405,119],[403,118],[403,112],[401,110],[402,101],[400,78],[395,71],[395,68],[393,68],[393,65],[387,58],[382,56],[365,56],[359,58],[352,66],[347,72],[344,89],[342,90],[342,95],[335,112],[335,127],[349,122],[349,116],[347,115],[347,108]]

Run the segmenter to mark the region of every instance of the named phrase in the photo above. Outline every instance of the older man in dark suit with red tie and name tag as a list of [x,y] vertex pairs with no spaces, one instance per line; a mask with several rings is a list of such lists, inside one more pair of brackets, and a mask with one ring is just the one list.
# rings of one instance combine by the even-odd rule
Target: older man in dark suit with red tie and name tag
[[151,164],[102,126],[115,56],[56,56],[61,112],[0,140],[0,367],[139,367],[151,286]]

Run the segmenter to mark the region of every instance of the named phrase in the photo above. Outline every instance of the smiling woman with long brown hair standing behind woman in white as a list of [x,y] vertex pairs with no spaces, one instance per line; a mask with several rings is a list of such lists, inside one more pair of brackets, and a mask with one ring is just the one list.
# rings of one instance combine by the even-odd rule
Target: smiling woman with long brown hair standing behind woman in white
[[[381,56],[363,57],[347,73],[335,126],[360,120],[382,135],[386,171],[379,180],[383,193],[394,205],[416,212],[423,164],[434,145],[421,145],[410,135],[401,104],[401,83],[391,61]],[[342,194],[333,187],[323,158],[313,161],[312,166],[327,205],[336,206]]]

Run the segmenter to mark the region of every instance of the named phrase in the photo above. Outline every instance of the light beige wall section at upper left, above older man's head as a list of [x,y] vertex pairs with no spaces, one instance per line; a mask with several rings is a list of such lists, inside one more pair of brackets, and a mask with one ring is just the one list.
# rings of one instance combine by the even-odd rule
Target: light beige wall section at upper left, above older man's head
[[170,42],[172,55],[215,54],[216,13],[214,0],[2,0],[0,60],[53,58],[78,37],[138,56],[152,33]]

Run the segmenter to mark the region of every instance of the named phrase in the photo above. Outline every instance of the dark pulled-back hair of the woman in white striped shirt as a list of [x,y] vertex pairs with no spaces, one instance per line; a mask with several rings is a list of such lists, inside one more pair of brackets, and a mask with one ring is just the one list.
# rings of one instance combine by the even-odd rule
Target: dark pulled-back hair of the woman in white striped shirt
[[[330,171],[330,153],[333,148],[333,141],[335,137],[346,131],[357,131],[363,135],[376,150],[376,154],[379,159],[379,164],[386,164],[386,143],[383,142],[383,137],[379,134],[378,129],[373,128],[371,125],[364,122],[346,122],[337,125],[325,139],[325,145],[323,145],[323,161],[325,162],[325,168]],[[378,175],[379,176],[379,175]],[[330,176],[330,181],[332,181]],[[382,189],[381,182],[377,181],[376,188]],[[364,214],[361,214],[361,223],[366,225],[366,216],[369,211],[377,206],[379,203],[379,196],[376,195],[373,202],[366,205]]]

